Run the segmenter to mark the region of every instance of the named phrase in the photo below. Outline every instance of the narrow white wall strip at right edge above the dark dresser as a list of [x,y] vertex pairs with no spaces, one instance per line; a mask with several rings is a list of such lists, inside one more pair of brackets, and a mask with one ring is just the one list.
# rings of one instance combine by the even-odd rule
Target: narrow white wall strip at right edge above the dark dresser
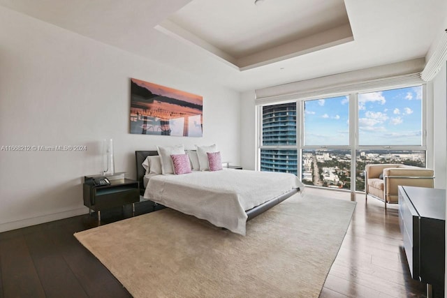
[[447,69],[439,70],[433,84],[434,105],[434,187],[446,188],[447,182]]

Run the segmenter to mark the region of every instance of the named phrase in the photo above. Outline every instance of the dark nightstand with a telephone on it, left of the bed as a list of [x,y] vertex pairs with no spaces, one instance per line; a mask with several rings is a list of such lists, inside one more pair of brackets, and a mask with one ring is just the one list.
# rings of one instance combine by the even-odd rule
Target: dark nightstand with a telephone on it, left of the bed
[[93,177],[84,177],[84,204],[91,211],[98,212],[101,221],[101,210],[122,207],[132,204],[132,215],[135,213],[135,202],[140,201],[139,182],[131,179],[110,179],[110,185],[97,186]]

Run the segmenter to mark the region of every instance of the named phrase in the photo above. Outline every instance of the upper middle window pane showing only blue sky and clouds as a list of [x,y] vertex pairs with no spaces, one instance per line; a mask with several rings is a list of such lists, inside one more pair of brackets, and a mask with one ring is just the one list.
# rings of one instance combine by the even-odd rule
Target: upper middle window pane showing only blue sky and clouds
[[349,97],[305,101],[305,145],[349,145]]

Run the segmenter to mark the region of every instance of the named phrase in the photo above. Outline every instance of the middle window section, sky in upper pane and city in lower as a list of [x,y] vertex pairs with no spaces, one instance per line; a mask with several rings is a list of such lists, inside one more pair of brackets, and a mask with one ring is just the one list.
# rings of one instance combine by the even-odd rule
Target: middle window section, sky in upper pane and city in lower
[[303,183],[350,189],[349,96],[304,100],[301,104]]

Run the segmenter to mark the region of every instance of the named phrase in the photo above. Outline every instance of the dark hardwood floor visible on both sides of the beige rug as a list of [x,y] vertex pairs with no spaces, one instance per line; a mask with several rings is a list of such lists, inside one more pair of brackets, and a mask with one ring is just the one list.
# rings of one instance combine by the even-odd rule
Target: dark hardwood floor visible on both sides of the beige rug
[[[307,188],[307,193],[351,200],[349,193]],[[397,206],[365,195],[358,202],[342,247],[321,292],[326,297],[425,297],[413,281],[402,249]],[[152,207],[140,202],[135,215]],[[131,216],[131,207],[101,212],[101,224]],[[73,237],[94,228],[94,216],[75,216],[0,233],[0,298],[131,297],[129,292]],[[305,274],[305,272],[303,272]]]

